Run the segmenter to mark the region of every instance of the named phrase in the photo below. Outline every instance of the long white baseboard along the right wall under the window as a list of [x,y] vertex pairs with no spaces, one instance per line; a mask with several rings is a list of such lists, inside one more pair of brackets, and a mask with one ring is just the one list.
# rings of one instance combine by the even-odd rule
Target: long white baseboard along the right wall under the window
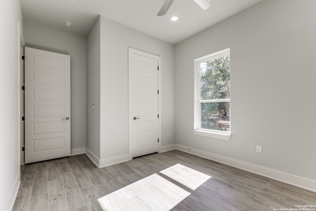
[[179,144],[175,144],[175,149],[316,192],[316,181],[312,179],[307,179],[301,176],[296,176],[296,175],[289,174],[289,173],[282,172],[275,169],[261,167],[258,165],[246,163],[246,162],[239,161],[233,158],[224,157],[221,155],[205,152],[202,150],[197,150],[197,149],[186,147]]

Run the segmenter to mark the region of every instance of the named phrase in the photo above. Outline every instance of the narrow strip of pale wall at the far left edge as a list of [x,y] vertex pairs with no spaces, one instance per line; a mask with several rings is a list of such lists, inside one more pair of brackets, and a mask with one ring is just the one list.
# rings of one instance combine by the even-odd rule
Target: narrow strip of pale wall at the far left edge
[[20,180],[18,137],[18,21],[23,29],[19,0],[0,1],[0,210],[11,210]]

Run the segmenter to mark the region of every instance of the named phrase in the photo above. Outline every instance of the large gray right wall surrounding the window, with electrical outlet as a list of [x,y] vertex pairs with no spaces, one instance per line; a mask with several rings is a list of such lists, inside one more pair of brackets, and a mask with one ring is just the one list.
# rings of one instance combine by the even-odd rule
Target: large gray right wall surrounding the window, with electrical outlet
[[[176,44],[176,143],[315,180],[315,8],[264,0]],[[233,136],[194,135],[194,59],[228,47]]]

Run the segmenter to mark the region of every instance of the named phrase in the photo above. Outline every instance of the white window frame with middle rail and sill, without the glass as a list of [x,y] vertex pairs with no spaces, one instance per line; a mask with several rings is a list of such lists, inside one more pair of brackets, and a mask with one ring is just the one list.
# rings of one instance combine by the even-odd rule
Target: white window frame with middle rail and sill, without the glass
[[[195,135],[201,135],[206,137],[218,138],[223,140],[230,140],[232,137],[231,130],[228,131],[220,131],[220,130],[211,130],[211,129],[203,129],[200,128],[200,103],[215,103],[215,102],[230,102],[230,99],[212,99],[212,100],[200,100],[200,68],[199,64],[205,61],[217,59],[219,57],[223,57],[226,55],[230,55],[230,48],[209,54],[207,56],[203,56],[194,60],[194,71],[195,71],[195,94],[194,94],[194,129],[193,133]],[[231,106],[231,104],[230,104]],[[231,121],[230,121],[231,124]],[[231,126],[230,126],[231,128]]]

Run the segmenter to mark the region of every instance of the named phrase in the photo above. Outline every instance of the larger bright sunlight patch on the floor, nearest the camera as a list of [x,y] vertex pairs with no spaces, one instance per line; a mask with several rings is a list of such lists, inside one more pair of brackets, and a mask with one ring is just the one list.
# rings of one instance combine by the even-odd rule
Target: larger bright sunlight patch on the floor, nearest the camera
[[155,173],[99,198],[98,202],[105,211],[168,211],[189,195]]

